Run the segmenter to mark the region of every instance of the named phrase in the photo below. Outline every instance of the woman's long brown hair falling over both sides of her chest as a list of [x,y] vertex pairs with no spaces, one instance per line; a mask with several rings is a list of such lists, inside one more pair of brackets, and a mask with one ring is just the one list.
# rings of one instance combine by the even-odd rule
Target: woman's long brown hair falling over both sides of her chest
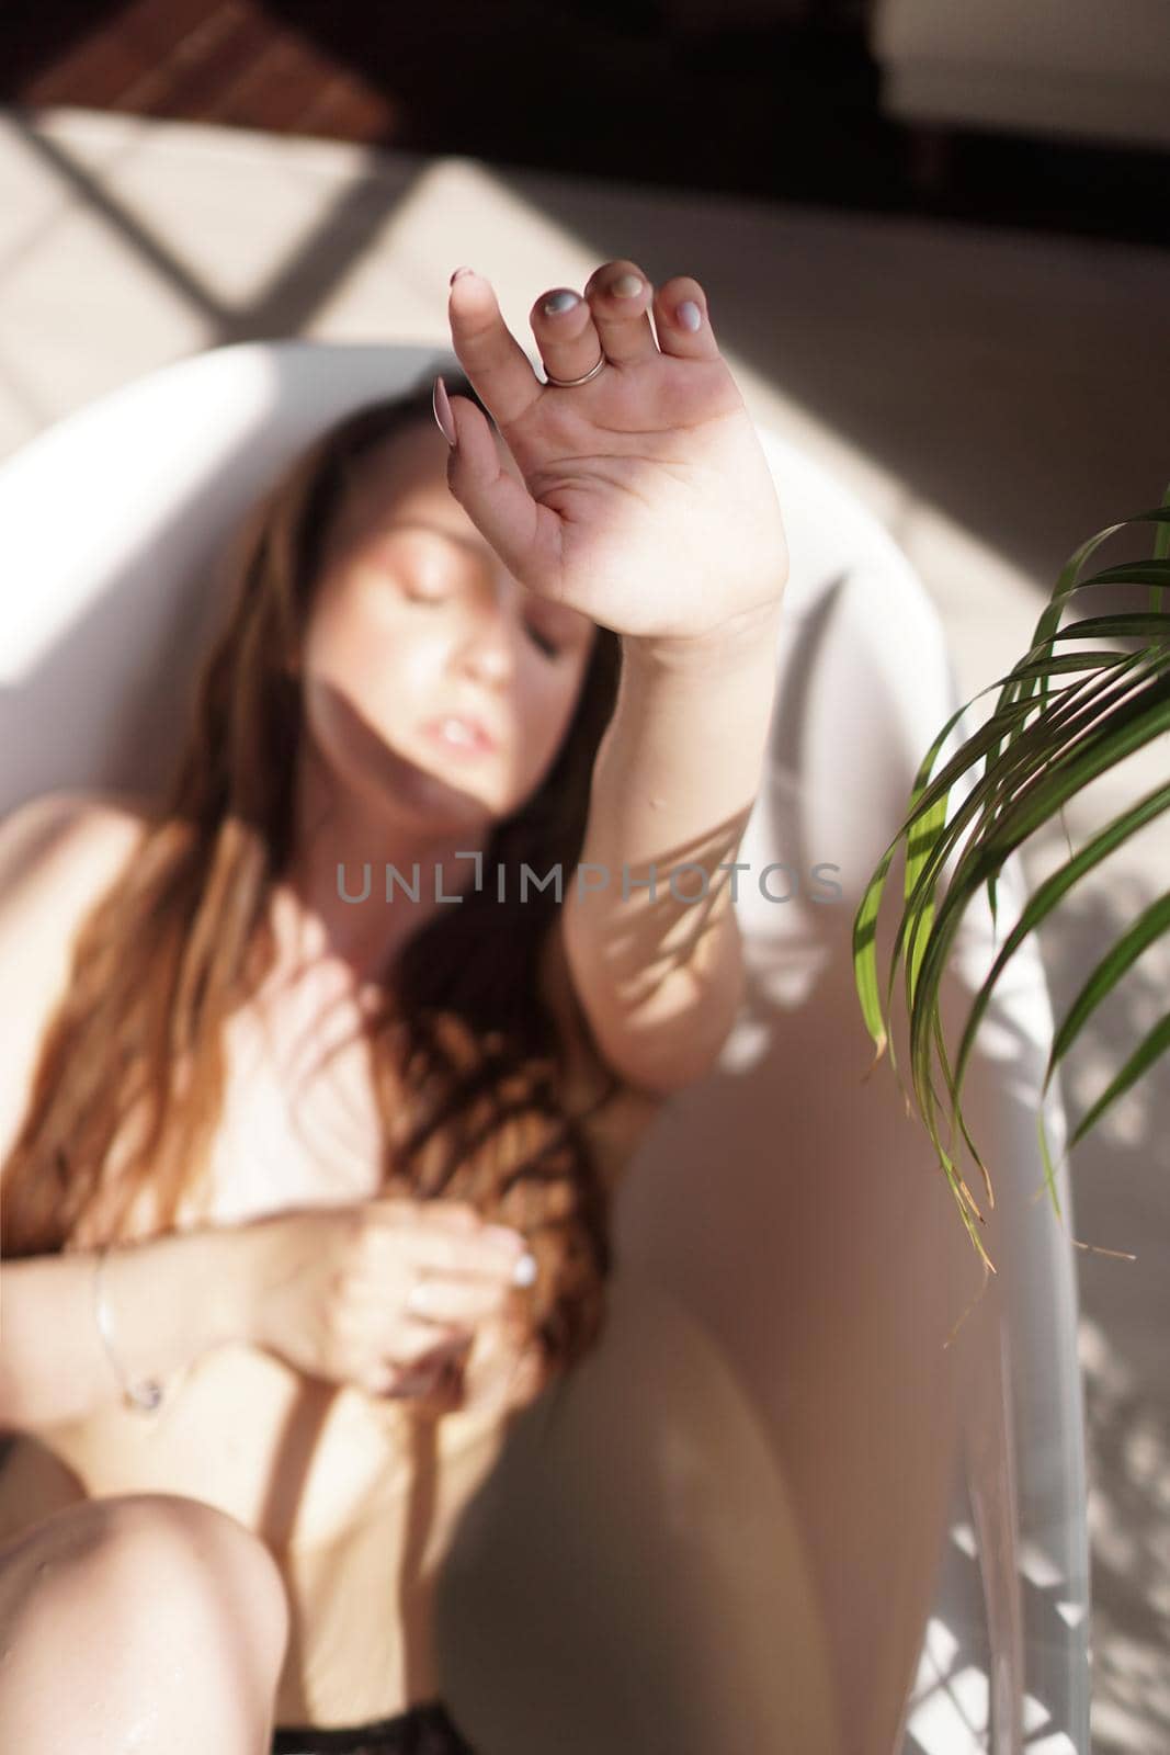
[[[484,407],[461,372],[444,377]],[[223,1027],[274,965],[270,892],[295,851],[303,723],[289,658],[356,469],[430,418],[430,374],[351,412],[235,532],[232,609],[200,672],[163,807],[82,923],[67,997],[44,1032],[5,1165],[4,1255],[147,1236],[174,1227],[196,1186],[207,1193]],[[609,1213],[582,1116],[565,1100],[565,1044],[539,990],[560,904],[553,886],[530,886],[523,904],[514,892],[524,862],[540,876],[558,863],[572,874],[617,670],[617,635],[598,628],[547,777],[493,827],[482,886],[405,941],[363,1025],[382,1114],[382,1192],[470,1200],[528,1236],[539,1265],[533,1329],[549,1369],[600,1334]],[[602,1100],[616,1088],[610,1079]],[[135,1128],[123,1132],[128,1118]],[[144,1199],[146,1221],[135,1209]]]

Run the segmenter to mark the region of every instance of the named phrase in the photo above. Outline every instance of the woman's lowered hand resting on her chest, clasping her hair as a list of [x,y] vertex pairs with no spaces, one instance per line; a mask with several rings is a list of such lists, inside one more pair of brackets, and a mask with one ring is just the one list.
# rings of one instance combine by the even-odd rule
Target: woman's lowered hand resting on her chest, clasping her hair
[[461,1406],[468,1355],[484,1388],[498,1371],[500,1337],[530,1278],[524,1269],[516,1278],[526,1255],[519,1232],[460,1200],[396,1197],[302,1207],[249,1228],[249,1339],[296,1371],[444,1406]]

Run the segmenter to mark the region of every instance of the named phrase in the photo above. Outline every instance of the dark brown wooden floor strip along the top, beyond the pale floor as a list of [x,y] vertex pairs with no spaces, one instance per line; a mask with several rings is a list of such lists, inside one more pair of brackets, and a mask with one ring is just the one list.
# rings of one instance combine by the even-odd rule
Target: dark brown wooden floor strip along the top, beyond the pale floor
[[44,0],[4,21],[0,102],[1170,244],[1166,154],[882,118],[865,5],[700,32],[654,0]]

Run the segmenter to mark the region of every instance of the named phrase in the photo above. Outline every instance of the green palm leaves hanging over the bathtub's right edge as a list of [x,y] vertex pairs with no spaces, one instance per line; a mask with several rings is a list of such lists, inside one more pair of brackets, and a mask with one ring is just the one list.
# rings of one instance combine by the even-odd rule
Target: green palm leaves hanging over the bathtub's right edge
[[[1152,555],[1082,577],[1086,562],[1102,542],[1130,525],[1154,526]],[[1075,593],[1109,588],[1117,595],[1135,584],[1149,586],[1149,604],[1140,612],[1119,609],[1067,627],[1059,625]],[[963,913],[982,885],[988,886],[991,920],[996,923],[996,878],[1003,862],[1093,779],[1170,732],[1170,609],[1163,607],[1166,584],[1170,584],[1170,486],[1159,507],[1109,525],[1070,556],[1035,625],[1030,649],[1007,677],[988,684],[974,697],[979,700],[989,690],[1000,688],[995,711],[935,774],[940,749],[972,702],[960,707],[938,732],[914,779],[905,821],[870,878],[854,916],[854,983],[875,1044],[874,1064],[865,1076],[874,1072],[886,1048],[891,1067],[898,1072],[888,1020],[898,967],[903,965],[914,1100],[947,1174],[963,1223],[982,1257],[984,1283],[988,1271],[995,1272],[995,1264],[982,1246],[975,1223],[982,1223],[982,1213],[956,1162],[958,1127],[982,1172],[989,1204],[995,1206],[988,1165],[979,1157],[961,1113],[963,1076],[981,1018],[996,981],[1024,937],[1061,906],[1074,886],[1091,878],[1095,867],[1130,835],[1170,813],[1170,760],[1165,763],[1165,783],[1156,784],[1103,828],[1095,830],[1077,853],[1070,848],[1065,863],[1026,902],[970,1006],[954,1069],[940,1025],[942,976]],[[949,814],[951,792],[967,777],[972,779],[967,797]],[[902,844],[905,844],[903,907],[882,999],[877,976],[877,920],[889,865]],[[960,844],[961,851],[954,858]],[[944,885],[947,862],[951,876]],[[1081,986],[1054,1032],[1042,1097],[1095,1009],[1142,951],[1165,934],[1170,934],[1170,890],[1158,895],[1107,948]],[[931,1049],[937,1049],[951,1104],[947,1146],[940,1139],[940,1099],[931,1078]],[[1168,1049],[1170,1011],[1133,1044],[1124,1065],[1077,1123],[1067,1150],[1070,1151]],[[900,1072],[898,1079],[902,1083]],[[1037,1121],[1044,1174],[1059,1216],[1042,1102],[1037,1106]]]

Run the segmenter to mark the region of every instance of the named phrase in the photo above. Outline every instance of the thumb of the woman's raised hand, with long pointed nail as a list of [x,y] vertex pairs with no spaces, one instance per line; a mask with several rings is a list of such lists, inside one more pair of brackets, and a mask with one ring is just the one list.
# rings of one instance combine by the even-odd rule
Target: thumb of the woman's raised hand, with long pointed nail
[[537,505],[519,474],[505,467],[500,441],[474,402],[451,397],[451,418],[456,428],[447,456],[451,493],[512,577],[528,586],[554,577],[561,551],[560,518],[551,507]]

